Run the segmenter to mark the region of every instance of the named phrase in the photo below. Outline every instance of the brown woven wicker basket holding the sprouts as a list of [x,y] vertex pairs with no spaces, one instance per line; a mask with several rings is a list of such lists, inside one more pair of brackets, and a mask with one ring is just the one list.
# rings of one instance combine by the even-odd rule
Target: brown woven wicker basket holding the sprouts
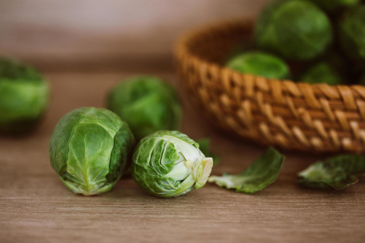
[[220,65],[252,31],[252,21],[235,21],[178,39],[177,70],[198,109],[226,131],[261,144],[364,153],[364,86],[279,81]]

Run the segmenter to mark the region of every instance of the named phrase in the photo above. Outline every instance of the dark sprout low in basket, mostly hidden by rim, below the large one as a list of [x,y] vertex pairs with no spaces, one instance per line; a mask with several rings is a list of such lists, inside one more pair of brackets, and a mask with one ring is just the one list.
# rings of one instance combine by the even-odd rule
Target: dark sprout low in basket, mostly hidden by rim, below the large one
[[342,83],[342,78],[330,63],[320,62],[306,71],[300,81],[307,83],[327,83],[328,85],[338,85]]

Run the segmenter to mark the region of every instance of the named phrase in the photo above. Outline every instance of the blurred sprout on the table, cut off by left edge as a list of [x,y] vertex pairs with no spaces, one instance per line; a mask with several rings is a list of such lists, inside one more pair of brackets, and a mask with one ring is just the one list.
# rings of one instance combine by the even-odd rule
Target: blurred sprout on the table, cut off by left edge
[[45,111],[49,87],[33,68],[0,58],[0,131],[30,130]]

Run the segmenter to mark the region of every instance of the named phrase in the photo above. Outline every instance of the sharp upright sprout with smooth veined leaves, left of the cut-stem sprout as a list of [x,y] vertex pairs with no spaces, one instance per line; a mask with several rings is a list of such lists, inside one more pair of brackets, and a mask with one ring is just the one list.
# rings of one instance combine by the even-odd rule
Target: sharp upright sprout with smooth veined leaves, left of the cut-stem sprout
[[134,137],[110,110],[81,107],[59,120],[49,151],[51,165],[74,193],[109,191],[122,176]]

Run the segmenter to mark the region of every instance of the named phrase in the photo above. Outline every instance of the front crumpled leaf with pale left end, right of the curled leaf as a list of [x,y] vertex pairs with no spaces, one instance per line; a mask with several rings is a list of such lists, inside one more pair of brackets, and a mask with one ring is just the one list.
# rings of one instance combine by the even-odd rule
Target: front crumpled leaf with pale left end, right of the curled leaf
[[341,166],[328,162],[316,162],[304,171],[299,172],[299,184],[311,188],[341,190],[357,183],[358,178],[350,175]]

